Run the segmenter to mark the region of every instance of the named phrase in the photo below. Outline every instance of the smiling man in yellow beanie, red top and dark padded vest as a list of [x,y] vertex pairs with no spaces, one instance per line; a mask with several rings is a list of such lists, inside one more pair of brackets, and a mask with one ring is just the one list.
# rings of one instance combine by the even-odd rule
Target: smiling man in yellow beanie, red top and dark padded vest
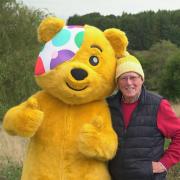
[[[169,102],[147,91],[144,72],[131,55],[118,60],[117,94],[107,99],[119,147],[109,162],[112,180],[165,180],[180,161],[180,118]],[[164,152],[164,138],[172,142]]]

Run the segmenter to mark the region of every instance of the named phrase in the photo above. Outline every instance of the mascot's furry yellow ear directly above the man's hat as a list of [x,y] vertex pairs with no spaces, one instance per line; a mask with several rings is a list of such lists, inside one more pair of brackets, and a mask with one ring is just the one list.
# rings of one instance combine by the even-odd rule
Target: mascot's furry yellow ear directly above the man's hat
[[116,58],[124,57],[128,54],[128,38],[126,34],[116,28],[106,29],[104,31],[106,38],[109,40],[111,46],[113,47]]

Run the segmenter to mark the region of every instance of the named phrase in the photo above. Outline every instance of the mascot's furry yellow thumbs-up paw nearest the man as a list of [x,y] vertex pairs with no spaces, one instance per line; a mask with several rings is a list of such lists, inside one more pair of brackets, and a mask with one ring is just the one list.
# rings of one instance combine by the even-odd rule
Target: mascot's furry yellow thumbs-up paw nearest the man
[[112,129],[110,115],[107,115],[107,112],[101,112],[101,115],[81,129],[79,150],[85,156],[103,161],[112,159],[117,145],[117,135]]

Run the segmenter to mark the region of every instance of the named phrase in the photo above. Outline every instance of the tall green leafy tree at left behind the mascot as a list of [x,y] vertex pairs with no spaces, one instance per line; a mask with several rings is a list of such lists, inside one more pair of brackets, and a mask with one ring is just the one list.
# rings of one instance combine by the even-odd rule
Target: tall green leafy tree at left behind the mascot
[[0,119],[37,89],[34,63],[40,49],[36,29],[45,13],[16,0],[0,0]]

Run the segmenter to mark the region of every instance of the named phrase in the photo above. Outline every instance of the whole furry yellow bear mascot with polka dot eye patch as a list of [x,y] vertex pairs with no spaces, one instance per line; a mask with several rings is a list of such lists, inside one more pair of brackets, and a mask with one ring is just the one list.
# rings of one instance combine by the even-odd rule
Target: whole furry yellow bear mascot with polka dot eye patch
[[30,138],[21,179],[110,180],[107,161],[118,143],[105,98],[117,58],[126,55],[125,33],[48,17],[38,38],[45,43],[35,67],[42,90],[3,120],[9,134]]

